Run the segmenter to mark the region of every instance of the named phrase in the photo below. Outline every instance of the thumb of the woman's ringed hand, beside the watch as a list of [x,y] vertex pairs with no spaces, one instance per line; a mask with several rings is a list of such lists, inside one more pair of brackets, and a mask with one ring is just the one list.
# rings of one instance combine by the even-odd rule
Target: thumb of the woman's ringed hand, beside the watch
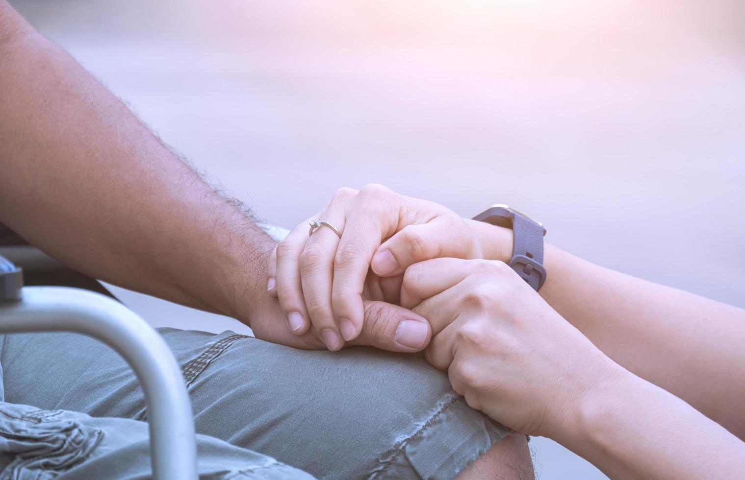
[[413,263],[438,257],[474,258],[468,225],[455,215],[434,217],[428,223],[407,225],[386,240],[373,255],[373,272],[381,277],[402,274]]

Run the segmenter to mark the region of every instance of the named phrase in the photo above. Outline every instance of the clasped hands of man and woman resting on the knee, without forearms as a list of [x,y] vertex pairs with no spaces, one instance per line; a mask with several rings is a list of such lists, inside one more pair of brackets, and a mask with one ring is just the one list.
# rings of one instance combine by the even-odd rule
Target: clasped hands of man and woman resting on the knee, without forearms
[[[308,235],[316,217],[341,237]],[[342,188],[276,246],[267,287],[305,345],[425,350],[470,406],[550,435],[617,368],[504,263],[511,251],[506,228],[381,185]]]

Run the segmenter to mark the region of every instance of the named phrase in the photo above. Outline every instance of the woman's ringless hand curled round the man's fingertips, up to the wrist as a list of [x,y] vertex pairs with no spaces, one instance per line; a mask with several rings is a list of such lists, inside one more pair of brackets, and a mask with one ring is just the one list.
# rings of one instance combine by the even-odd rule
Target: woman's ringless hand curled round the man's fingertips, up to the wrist
[[501,261],[416,263],[401,304],[432,326],[428,362],[470,406],[519,432],[551,436],[623,371]]

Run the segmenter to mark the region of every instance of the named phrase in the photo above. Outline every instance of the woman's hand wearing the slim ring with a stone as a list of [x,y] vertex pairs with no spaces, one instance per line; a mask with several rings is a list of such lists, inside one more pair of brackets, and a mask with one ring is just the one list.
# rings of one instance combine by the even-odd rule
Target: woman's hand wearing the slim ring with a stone
[[[312,324],[329,350],[342,348],[361,333],[363,292],[398,303],[400,275],[410,264],[434,257],[482,256],[466,220],[441,205],[381,185],[360,191],[342,188],[317,217],[335,225],[341,238],[326,226],[308,237],[311,219],[301,223],[270,259],[267,287],[279,297],[292,333],[302,336]],[[377,276],[366,283],[371,266]],[[404,320],[392,349],[421,350],[428,333],[425,323]]]

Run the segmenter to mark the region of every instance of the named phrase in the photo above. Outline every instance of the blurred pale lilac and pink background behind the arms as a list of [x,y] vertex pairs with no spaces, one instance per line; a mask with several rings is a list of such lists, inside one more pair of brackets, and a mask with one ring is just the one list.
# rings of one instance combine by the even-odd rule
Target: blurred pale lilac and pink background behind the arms
[[[465,217],[507,203],[576,255],[745,307],[741,0],[11,3],[267,222],[370,182]],[[605,478],[531,444],[542,479]]]

